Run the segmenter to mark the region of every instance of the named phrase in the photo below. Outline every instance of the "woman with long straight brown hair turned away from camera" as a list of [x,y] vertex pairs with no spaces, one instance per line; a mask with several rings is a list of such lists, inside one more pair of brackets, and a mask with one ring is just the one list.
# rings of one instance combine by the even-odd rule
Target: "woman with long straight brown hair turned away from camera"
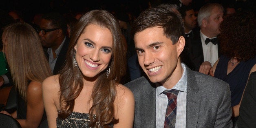
[[4,29],[2,42],[18,95],[17,110],[1,113],[11,115],[22,127],[38,127],[46,118],[42,82],[51,76],[38,33],[29,24],[15,23]]

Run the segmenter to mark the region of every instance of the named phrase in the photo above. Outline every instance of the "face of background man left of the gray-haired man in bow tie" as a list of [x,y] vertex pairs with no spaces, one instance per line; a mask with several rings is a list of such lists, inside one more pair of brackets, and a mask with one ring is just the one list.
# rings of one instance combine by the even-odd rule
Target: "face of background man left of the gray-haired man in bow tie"
[[184,20],[185,28],[188,30],[194,29],[197,25],[196,16],[193,9],[186,11],[186,16],[183,20]]

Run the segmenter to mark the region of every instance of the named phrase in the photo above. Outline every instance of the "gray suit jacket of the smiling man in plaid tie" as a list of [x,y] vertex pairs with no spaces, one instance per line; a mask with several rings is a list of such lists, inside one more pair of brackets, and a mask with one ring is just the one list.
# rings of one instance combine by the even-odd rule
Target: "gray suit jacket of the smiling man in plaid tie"
[[[187,128],[232,128],[229,85],[187,66]],[[156,90],[148,78],[125,84],[135,97],[134,128],[156,127]]]

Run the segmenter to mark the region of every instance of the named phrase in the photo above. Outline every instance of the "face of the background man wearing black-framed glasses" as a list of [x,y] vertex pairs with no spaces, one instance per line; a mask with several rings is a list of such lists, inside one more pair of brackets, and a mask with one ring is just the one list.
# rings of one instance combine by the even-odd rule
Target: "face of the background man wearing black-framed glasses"
[[[51,25],[50,20],[41,19],[40,20],[40,29],[55,29],[56,27]],[[58,30],[58,29],[57,29]],[[50,48],[56,45],[56,38],[57,38],[57,30],[46,32],[43,34],[41,31],[38,33],[42,46],[46,48]]]

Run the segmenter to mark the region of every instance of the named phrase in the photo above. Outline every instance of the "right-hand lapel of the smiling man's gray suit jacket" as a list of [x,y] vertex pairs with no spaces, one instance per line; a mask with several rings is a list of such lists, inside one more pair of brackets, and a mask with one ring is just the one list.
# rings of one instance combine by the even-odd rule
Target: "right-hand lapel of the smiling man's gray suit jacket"
[[196,128],[200,104],[201,104],[201,96],[199,94],[199,87],[195,81],[194,73],[187,68],[187,114],[186,114],[186,126]]

